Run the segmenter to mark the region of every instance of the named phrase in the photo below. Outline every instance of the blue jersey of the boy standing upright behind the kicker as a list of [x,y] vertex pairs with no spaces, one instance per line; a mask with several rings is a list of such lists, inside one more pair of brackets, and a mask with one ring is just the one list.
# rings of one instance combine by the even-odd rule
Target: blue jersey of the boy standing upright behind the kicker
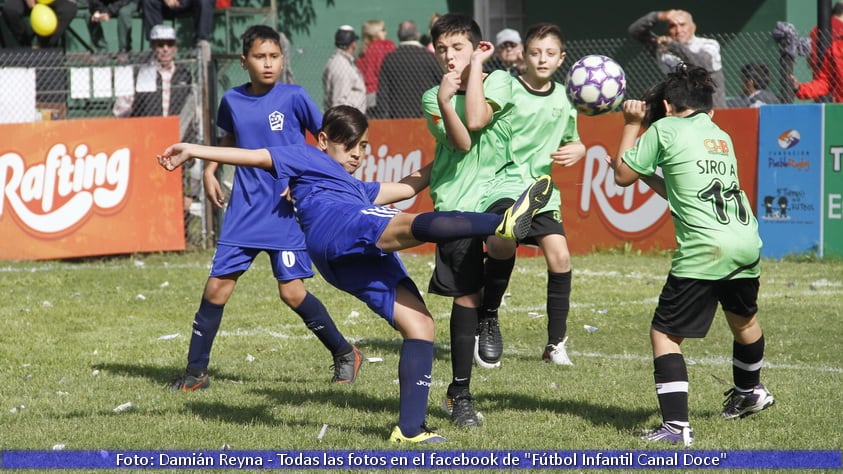
[[[228,90],[220,102],[217,126],[234,135],[239,148],[266,148],[305,142],[316,135],[322,114],[297,85],[277,84],[266,94],[249,94],[246,85]],[[304,236],[293,208],[281,193],[286,179],[261,169],[238,166],[219,243],[272,250],[304,250]]]

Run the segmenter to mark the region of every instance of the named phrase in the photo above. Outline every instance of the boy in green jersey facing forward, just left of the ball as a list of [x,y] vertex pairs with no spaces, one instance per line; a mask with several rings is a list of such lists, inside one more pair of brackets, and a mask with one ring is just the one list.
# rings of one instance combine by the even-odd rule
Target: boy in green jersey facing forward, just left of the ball
[[[540,23],[527,30],[524,74],[512,81],[510,114],[512,161],[498,168],[481,206],[486,212],[503,212],[535,176],[551,174],[551,167],[572,166],[585,156],[577,132],[577,111],[565,87],[553,75],[565,60],[565,38],[559,27]],[[562,225],[559,189],[553,186],[550,203],[533,220],[528,237],[547,261],[547,343],[542,359],[572,365],[565,349],[571,296],[571,254]],[[515,263],[515,242],[489,238],[489,258],[483,292],[483,312],[477,328],[475,361],[481,367],[499,363],[503,342],[498,307]]]

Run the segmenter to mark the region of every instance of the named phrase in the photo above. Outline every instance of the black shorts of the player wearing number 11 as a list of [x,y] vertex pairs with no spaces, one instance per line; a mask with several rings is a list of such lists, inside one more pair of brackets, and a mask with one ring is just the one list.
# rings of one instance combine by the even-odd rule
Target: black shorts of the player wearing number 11
[[705,337],[717,303],[738,316],[754,316],[758,312],[758,287],[758,278],[698,280],[670,274],[653,314],[653,328],[670,336]]

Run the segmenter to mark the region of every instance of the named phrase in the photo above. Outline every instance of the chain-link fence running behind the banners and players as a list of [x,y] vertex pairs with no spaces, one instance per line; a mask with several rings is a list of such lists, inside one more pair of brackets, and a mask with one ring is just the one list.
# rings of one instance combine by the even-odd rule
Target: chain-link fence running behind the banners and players
[[[806,36],[802,34],[801,36]],[[739,103],[744,95],[741,68],[746,64],[763,64],[769,71],[767,89],[782,102],[793,101],[790,75],[811,80],[812,70],[807,57],[789,54],[769,32],[718,34],[707,36],[721,46],[722,68],[726,78],[726,96],[730,104]],[[568,59],[557,72],[564,82],[568,67],[588,54],[603,54],[617,60],[627,76],[627,97],[640,97],[651,84],[661,80],[657,59],[630,38],[573,40],[567,44]],[[302,85],[318,106],[322,106],[322,69],[333,54],[330,41],[318,45],[292,45],[288,52],[293,81]],[[804,53],[805,51],[802,51]],[[168,115],[179,115],[181,137],[185,141],[214,143],[216,109],[223,92],[248,81],[236,54],[214,55],[208,65],[210,80],[201,74],[205,60],[193,51],[180,55],[177,70],[169,89],[172,109]],[[790,53],[793,53],[791,50]],[[86,117],[163,115],[160,84],[150,75],[152,56],[138,53],[128,58],[103,58],[86,53],[63,50],[0,49],[0,123],[62,120]],[[417,71],[408,71],[408,81]],[[150,82],[152,78],[153,82]],[[840,90],[839,76],[829,76],[830,90]],[[134,100],[128,105],[128,96]],[[420,100],[420,97],[412,100]],[[417,102],[416,102],[417,103]],[[405,115],[414,112],[407,111]],[[230,167],[225,167],[230,168]],[[231,170],[223,169],[221,183],[230,184]],[[212,212],[208,212],[202,185],[202,165],[185,169],[185,230],[189,247],[205,248],[215,240],[218,228]],[[217,216],[218,217],[218,216]]]

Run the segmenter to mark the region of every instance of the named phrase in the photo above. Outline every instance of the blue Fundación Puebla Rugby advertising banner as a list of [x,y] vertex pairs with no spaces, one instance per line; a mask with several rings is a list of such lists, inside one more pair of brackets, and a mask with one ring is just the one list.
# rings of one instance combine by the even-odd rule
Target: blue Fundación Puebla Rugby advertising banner
[[820,104],[761,107],[755,202],[765,257],[818,251],[822,113]]

